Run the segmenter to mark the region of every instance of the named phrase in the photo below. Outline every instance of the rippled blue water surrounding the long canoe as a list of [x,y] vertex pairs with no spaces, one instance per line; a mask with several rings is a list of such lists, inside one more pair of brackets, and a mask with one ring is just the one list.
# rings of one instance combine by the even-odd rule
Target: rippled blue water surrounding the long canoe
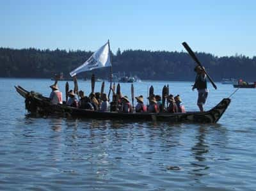
[[[256,190],[256,89],[239,89],[216,125],[173,125],[31,118],[17,84],[49,95],[52,81],[0,79],[0,190]],[[135,94],[164,84],[197,109],[191,82],[135,83]],[[217,86],[206,109],[235,90]]]

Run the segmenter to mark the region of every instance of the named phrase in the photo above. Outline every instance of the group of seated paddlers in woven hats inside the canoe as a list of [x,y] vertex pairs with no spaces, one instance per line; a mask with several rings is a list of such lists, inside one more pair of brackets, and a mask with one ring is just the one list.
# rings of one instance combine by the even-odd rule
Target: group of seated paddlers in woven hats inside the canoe
[[[50,86],[50,88],[52,89],[50,95],[51,103],[53,105],[57,105],[58,103],[62,104],[62,93],[58,89],[57,84]],[[79,109],[88,109],[92,111],[102,112],[186,112],[179,95],[168,95],[164,97],[168,103],[167,107],[163,105],[163,102],[161,101],[161,96],[159,95],[150,95],[148,97],[148,105],[144,104],[143,96],[140,95],[138,97],[135,97],[138,103],[136,104],[136,107],[133,108],[127,96],[113,95],[113,101],[109,103],[106,93],[102,93],[101,95],[99,92],[97,92],[90,93],[89,96],[84,96],[84,92],[79,91],[78,94],[79,98],[77,98],[73,90],[68,91],[68,100],[66,102],[66,105]]]

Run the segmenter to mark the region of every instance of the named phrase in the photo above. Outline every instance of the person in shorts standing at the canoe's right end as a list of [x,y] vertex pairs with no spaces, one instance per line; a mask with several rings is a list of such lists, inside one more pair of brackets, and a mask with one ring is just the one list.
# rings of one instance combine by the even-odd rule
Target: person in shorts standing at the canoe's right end
[[204,104],[208,96],[206,74],[200,66],[195,67],[195,72],[196,72],[196,79],[195,79],[195,84],[193,85],[192,90],[194,91],[194,89],[197,89],[198,91],[197,105],[200,109],[200,112],[204,112]]

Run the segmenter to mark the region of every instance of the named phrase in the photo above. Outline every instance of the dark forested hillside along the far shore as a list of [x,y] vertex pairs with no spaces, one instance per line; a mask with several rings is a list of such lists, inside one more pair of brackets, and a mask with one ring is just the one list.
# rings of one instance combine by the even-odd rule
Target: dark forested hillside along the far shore
[[[0,48],[0,77],[50,78],[53,73],[65,76],[81,65],[93,52],[81,50],[39,50]],[[196,53],[212,79],[242,78],[255,81],[256,56],[216,57],[202,52]],[[125,72],[150,80],[194,80],[195,62],[186,52],[148,50],[118,50],[113,55],[113,72]],[[108,69],[95,70],[97,77],[108,78]],[[80,77],[89,73],[83,73]]]

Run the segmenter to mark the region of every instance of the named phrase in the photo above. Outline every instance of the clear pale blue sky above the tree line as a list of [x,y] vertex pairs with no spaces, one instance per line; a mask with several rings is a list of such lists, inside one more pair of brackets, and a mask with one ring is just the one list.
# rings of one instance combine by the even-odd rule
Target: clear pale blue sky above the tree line
[[0,47],[256,56],[256,1],[0,0]]

